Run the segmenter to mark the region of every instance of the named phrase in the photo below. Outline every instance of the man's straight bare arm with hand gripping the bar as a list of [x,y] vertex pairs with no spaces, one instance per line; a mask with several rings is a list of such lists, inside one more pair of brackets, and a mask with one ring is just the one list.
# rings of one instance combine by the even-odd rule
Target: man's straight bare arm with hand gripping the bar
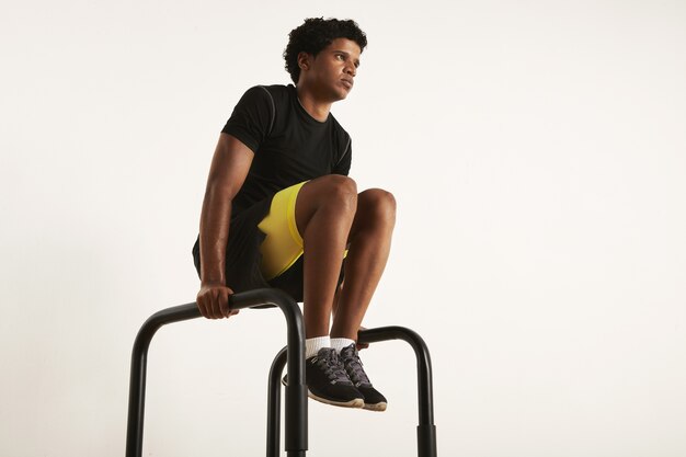
[[236,137],[219,136],[211,160],[203,213],[201,215],[201,290],[197,307],[208,319],[228,318],[229,295],[226,286],[226,247],[231,220],[231,202],[243,185],[253,152]]

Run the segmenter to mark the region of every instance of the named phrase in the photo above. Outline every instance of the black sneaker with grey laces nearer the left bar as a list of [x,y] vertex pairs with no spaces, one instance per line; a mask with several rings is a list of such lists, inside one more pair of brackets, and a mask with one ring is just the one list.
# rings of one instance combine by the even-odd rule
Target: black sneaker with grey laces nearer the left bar
[[[351,382],[339,354],[332,347],[322,347],[317,355],[305,361],[305,379],[308,396],[322,403],[344,408],[363,408],[363,395]],[[288,375],[282,384],[288,384]]]

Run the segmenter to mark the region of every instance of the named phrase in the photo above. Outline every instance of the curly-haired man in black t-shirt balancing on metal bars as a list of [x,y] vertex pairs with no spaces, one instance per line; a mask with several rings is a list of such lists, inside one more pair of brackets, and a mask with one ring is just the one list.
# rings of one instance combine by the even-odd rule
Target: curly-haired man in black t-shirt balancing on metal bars
[[350,20],[308,19],[290,32],[284,58],[295,85],[254,87],[233,110],[193,254],[204,317],[237,313],[233,292],[286,290],[304,302],[310,397],[384,411],[356,339],[386,266],[396,203],[379,188],[357,193],[351,138],[330,113],[353,89],[366,45]]

